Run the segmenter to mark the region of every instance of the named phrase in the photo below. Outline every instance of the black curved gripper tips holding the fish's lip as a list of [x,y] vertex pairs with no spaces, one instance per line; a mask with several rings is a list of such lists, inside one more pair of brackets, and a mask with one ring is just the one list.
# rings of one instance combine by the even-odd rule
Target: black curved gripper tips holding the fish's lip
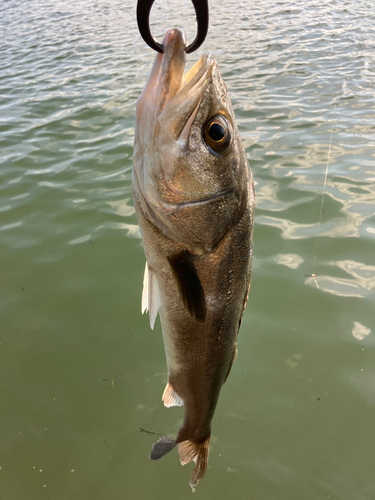
[[[149,47],[163,53],[163,45],[155,40],[150,31],[150,12],[155,0],[138,0],[137,22],[138,29]],[[186,53],[191,54],[204,42],[208,32],[208,0],[192,0],[197,15],[197,36],[193,43],[186,47]]]

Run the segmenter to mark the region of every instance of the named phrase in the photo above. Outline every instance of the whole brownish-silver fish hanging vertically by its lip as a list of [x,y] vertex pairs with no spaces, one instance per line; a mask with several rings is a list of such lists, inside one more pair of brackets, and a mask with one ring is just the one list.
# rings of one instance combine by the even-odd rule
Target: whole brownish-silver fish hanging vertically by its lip
[[142,312],[160,315],[167,408],[184,406],[177,437],[159,439],[157,460],[177,446],[205,475],[211,421],[237,356],[253,255],[254,180],[230,96],[211,53],[185,73],[186,38],[166,32],[137,100],[133,199],[146,267]]

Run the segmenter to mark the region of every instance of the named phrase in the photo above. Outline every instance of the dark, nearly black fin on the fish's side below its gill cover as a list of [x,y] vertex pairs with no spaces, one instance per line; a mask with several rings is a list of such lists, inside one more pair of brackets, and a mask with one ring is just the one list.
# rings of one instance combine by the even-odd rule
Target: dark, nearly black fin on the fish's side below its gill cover
[[180,288],[184,306],[197,320],[204,321],[207,313],[206,300],[192,255],[183,250],[177,255],[168,257],[168,262]]

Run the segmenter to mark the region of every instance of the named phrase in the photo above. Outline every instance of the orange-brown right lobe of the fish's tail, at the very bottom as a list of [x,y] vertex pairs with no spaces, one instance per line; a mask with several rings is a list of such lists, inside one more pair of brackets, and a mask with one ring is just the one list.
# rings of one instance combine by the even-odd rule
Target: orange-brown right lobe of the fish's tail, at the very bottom
[[201,481],[206,473],[208,452],[210,450],[210,436],[202,443],[193,440],[182,441],[178,445],[181,465],[186,465],[191,461],[195,462],[193,473],[190,476],[189,484],[194,491],[195,486]]

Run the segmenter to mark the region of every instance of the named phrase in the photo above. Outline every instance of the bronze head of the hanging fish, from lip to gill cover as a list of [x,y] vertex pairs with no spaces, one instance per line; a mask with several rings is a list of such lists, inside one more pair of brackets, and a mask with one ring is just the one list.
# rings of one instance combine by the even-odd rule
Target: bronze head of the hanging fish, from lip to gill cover
[[[183,32],[168,30],[163,48],[137,101],[134,191],[146,216],[169,237],[186,240],[190,231],[190,238],[194,233],[196,242],[212,247],[246,203],[246,155],[212,54],[185,73]],[[200,227],[189,230],[197,214]],[[205,225],[212,227],[214,215],[220,227],[208,237]]]

